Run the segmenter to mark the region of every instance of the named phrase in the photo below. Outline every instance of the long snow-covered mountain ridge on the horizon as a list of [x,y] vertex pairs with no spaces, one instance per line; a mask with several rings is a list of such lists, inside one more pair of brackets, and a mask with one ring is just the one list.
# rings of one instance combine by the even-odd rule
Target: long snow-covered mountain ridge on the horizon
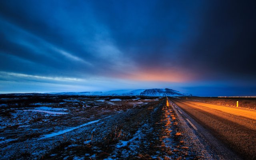
[[61,92],[50,93],[58,95],[85,95],[85,96],[192,96],[172,89],[138,89],[138,90],[112,90],[107,92]]

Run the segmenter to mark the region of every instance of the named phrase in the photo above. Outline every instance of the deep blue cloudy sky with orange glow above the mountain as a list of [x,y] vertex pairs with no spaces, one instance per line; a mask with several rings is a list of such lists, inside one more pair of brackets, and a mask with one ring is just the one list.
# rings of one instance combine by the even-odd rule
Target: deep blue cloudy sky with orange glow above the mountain
[[256,96],[254,0],[1,0],[0,93]]

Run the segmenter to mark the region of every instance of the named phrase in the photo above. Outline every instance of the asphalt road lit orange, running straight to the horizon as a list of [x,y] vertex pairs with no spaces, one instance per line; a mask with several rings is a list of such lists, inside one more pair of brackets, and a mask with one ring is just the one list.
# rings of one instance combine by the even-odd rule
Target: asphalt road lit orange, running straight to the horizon
[[[207,130],[210,133],[206,139],[217,140],[219,144],[223,144],[242,159],[256,159],[255,111],[178,98],[169,99],[176,104],[180,114],[185,112],[184,118],[189,117],[190,120],[187,120],[196,132]],[[203,129],[198,130],[198,128]],[[211,136],[212,138],[209,138]]]

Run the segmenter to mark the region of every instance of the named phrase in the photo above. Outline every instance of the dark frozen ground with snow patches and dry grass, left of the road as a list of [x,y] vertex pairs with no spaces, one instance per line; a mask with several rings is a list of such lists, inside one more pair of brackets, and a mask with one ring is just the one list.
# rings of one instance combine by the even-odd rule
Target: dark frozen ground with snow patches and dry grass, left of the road
[[1,160],[211,158],[177,135],[184,125],[165,98],[23,95],[0,104]]

